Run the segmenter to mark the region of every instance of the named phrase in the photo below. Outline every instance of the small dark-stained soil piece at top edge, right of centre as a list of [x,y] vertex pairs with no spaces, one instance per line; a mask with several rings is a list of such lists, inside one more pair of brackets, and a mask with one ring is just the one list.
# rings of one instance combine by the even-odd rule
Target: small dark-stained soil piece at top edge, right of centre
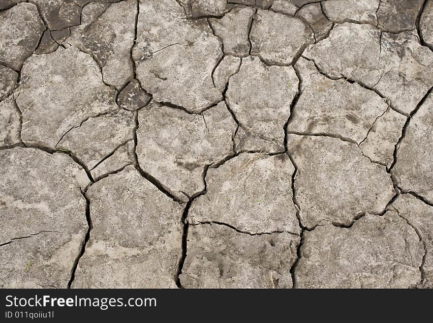
[[299,9],[296,16],[308,22],[316,40],[325,38],[332,28],[332,23],[323,14],[320,3],[311,3],[303,6]]

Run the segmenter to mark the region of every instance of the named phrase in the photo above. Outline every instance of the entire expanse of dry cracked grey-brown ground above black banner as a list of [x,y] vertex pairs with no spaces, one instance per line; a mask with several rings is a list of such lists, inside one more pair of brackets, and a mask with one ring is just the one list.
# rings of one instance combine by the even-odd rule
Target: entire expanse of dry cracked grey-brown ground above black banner
[[433,288],[433,0],[0,0],[0,287]]

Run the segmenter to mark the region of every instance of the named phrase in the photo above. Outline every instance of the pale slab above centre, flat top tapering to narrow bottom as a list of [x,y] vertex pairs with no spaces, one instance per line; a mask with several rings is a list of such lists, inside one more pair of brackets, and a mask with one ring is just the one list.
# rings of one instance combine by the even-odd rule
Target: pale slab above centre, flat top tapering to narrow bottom
[[266,66],[258,58],[242,60],[230,78],[226,93],[229,108],[245,129],[284,151],[284,124],[299,80],[291,66]]

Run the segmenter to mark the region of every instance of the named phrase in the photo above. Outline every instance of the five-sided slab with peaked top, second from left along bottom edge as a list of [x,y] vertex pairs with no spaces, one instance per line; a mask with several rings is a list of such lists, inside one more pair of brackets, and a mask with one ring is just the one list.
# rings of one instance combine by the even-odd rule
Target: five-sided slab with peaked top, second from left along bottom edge
[[96,182],[86,195],[93,228],[72,287],[176,288],[181,205],[133,166]]

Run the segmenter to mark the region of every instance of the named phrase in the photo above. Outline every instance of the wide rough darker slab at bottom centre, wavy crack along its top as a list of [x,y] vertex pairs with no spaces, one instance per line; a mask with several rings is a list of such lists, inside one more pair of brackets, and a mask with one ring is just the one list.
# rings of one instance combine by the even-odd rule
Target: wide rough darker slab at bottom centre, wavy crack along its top
[[185,288],[291,288],[298,235],[247,235],[222,225],[190,226]]

